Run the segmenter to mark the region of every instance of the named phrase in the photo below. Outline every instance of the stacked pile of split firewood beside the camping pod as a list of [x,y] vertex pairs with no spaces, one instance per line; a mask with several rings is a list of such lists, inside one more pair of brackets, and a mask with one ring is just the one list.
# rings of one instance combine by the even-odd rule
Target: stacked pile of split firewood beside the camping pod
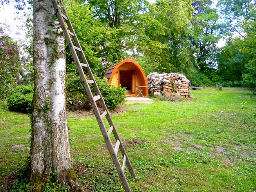
[[190,81],[182,74],[152,72],[147,76],[149,92],[154,94],[175,93],[184,99],[190,97]]

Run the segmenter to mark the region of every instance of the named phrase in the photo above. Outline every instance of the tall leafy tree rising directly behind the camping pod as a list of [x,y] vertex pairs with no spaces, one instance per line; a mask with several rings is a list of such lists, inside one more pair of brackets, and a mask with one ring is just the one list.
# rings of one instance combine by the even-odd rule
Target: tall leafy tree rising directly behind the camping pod
[[138,30],[138,16],[145,13],[147,0],[89,0],[94,7],[94,18],[105,28],[99,42],[102,61],[111,64],[123,59],[127,50],[134,48]]

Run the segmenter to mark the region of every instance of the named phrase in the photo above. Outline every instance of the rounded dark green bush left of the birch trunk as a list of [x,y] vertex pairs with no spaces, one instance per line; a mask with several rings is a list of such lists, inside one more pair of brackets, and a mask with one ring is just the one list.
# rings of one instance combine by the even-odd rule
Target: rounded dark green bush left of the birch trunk
[[28,112],[32,107],[34,86],[18,86],[11,92],[7,102],[11,111]]

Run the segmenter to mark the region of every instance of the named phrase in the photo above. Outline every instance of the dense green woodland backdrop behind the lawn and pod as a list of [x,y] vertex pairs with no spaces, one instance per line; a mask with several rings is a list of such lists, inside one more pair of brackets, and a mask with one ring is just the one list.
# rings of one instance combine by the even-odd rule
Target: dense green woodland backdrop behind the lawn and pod
[[[9,1],[1,2],[2,9]],[[31,16],[23,18],[33,2],[27,7],[24,1],[16,2],[27,40],[14,40],[7,24],[1,24],[1,99],[17,85],[33,83],[33,26]],[[191,86],[256,86],[254,0],[64,0],[64,4],[98,77],[114,63],[132,58],[146,75],[178,72],[191,80]],[[68,48],[66,60],[69,81],[69,74],[77,72]]]

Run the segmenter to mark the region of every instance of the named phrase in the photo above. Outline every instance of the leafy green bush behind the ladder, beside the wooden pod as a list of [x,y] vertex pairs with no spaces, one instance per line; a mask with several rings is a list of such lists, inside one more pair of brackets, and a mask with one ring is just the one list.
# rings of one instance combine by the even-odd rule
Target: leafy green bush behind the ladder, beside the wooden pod
[[[88,77],[86,78],[89,79]],[[100,89],[107,108],[114,109],[125,101],[125,88],[122,88],[121,86],[115,87],[110,85],[110,83],[107,82],[107,79],[102,79],[98,76],[94,76],[94,78]],[[93,85],[90,83],[89,86],[93,95],[96,96]],[[83,108],[91,108],[89,98],[87,97],[84,85],[82,84],[78,74],[67,74],[66,92],[66,104],[70,109],[73,109],[75,105],[80,105],[80,107]]]

